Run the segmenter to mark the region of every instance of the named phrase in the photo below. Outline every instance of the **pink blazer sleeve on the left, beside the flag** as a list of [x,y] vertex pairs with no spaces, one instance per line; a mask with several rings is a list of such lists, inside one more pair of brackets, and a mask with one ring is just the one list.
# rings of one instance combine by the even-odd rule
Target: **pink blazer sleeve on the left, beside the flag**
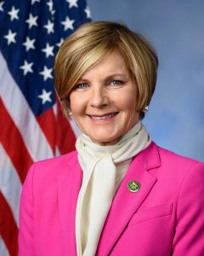
[[19,256],[34,255],[34,219],[33,219],[33,172],[35,165],[28,171],[20,197]]

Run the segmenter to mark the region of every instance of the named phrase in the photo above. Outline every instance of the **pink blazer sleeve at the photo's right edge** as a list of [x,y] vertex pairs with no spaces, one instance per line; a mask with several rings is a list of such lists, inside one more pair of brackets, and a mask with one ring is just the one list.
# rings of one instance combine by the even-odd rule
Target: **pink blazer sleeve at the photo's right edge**
[[204,255],[204,164],[184,178],[178,195],[173,256]]

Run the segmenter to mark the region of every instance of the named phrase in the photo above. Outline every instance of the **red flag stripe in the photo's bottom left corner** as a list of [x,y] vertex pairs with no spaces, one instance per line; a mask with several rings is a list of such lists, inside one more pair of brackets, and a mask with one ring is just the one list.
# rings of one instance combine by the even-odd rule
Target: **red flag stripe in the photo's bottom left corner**
[[10,256],[18,253],[18,228],[14,222],[14,216],[0,192],[0,235],[8,248]]

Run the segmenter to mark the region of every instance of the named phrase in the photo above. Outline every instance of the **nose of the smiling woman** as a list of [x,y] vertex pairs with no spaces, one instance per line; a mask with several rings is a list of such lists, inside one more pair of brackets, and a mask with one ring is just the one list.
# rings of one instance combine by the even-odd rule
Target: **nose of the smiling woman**
[[109,97],[104,87],[95,86],[92,90],[90,105],[93,108],[103,108],[108,105]]

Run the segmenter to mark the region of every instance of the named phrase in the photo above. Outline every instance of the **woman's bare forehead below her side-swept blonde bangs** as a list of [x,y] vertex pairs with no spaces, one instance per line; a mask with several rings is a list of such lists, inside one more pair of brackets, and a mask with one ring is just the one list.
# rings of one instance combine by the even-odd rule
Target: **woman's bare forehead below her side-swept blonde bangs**
[[110,76],[114,74],[128,75],[127,65],[119,50],[112,51],[109,55],[106,55],[99,63],[94,67],[89,68],[82,75],[82,79],[86,79],[95,74]]

